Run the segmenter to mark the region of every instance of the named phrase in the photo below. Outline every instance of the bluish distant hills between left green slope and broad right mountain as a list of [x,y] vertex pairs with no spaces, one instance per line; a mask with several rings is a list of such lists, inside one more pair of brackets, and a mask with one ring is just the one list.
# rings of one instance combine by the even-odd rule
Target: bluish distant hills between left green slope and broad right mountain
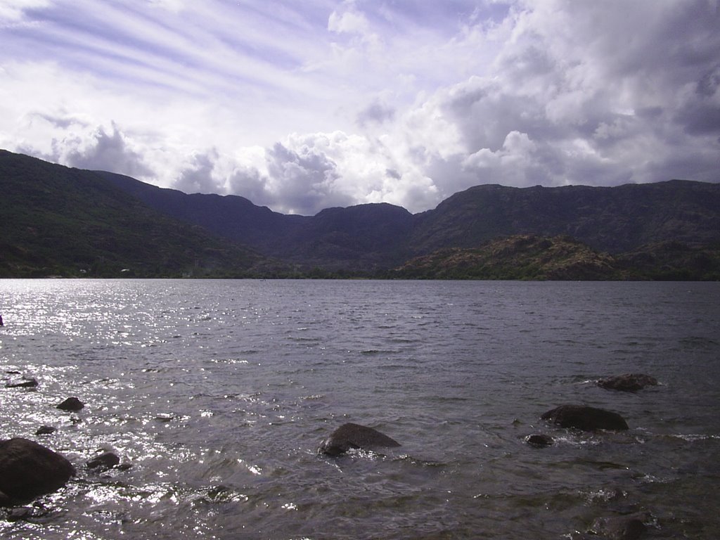
[[373,271],[405,260],[413,216],[392,204],[328,208],[312,217],[282,215],[244,197],[187,195],[128,176],[97,174],[168,216],[305,269]]

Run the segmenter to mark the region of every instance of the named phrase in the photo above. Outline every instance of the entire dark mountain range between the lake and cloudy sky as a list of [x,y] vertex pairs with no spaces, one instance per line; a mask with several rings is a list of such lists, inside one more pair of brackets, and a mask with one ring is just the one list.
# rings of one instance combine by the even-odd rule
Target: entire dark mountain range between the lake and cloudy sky
[[[0,276],[720,276],[720,184],[696,181],[485,184],[415,215],[381,203],[300,216],[235,195],[184,194],[0,150],[0,189]],[[505,248],[497,249],[498,242]],[[556,243],[563,247],[553,251]],[[508,246],[515,246],[513,268],[517,257],[567,256],[568,250],[582,251],[585,261],[595,253],[607,264],[588,275],[535,266],[503,274],[502,264],[492,272],[468,271],[471,261],[487,267],[510,256]],[[438,256],[449,250],[463,271],[448,271],[451,262]],[[478,250],[485,255],[477,257]]]

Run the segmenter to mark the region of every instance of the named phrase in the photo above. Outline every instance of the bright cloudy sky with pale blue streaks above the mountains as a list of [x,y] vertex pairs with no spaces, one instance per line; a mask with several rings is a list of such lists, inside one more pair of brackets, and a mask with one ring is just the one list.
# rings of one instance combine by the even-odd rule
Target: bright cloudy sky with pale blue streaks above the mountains
[[720,0],[0,0],[0,148],[286,214],[720,181]]

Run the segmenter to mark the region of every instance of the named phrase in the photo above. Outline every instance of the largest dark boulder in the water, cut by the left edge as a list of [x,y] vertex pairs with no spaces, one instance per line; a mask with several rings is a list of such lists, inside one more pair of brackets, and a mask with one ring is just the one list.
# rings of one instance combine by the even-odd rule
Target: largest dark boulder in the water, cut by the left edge
[[5,504],[31,500],[60,489],[75,468],[57,452],[27,438],[0,441],[0,492]]

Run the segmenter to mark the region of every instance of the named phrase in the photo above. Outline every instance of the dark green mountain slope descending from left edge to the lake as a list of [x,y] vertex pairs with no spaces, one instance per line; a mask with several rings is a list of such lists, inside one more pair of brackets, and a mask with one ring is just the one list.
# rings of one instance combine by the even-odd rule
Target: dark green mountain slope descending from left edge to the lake
[[0,276],[245,275],[263,262],[91,171],[0,150],[0,192]]

